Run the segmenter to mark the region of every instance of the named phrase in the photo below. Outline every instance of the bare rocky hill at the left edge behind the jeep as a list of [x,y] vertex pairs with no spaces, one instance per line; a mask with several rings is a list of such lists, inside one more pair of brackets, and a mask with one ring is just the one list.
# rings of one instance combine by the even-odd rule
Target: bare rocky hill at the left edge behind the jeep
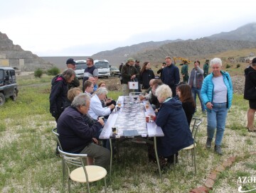
[[0,65],[14,67],[21,71],[34,71],[38,68],[48,69],[53,67],[50,62],[41,57],[25,51],[20,45],[14,45],[13,41],[5,33],[0,32]]

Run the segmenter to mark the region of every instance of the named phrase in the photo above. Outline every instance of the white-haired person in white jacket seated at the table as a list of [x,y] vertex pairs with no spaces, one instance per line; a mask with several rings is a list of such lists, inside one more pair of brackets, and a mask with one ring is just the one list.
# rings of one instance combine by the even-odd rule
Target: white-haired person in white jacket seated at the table
[[110,106],[102,107],[101,100],[104,100],[107,95],[107,89],[100,87],[95,91],[95,94],[92,96],[90,103],[90,110],[88,111],[90,116],[97,120],[100,116],[110,115],[111,110],[114,109],[114,104]]

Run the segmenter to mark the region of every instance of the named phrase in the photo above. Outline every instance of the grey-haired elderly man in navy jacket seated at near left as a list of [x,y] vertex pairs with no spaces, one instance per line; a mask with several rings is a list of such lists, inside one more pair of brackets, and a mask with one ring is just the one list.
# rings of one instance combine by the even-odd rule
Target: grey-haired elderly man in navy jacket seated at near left
[[90,96],[79,94],[75,96],[71,106],[61,114],[57,123],[57,131],[60,134],[60,144],[68,153],[85,153],[95,159],[95,165],[107,167],[110,164],[110,150],[96,145],[93,136],[104,126],[99,119],[92,126],[88,126],[83,115],[90,108]]

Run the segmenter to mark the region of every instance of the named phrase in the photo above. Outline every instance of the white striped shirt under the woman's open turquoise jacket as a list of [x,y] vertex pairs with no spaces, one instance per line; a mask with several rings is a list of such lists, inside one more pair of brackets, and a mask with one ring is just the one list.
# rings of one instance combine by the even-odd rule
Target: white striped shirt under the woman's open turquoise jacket
[[223,76],[213,77],[213,102],[225,103],[227,102],[228,89],[223,81]]

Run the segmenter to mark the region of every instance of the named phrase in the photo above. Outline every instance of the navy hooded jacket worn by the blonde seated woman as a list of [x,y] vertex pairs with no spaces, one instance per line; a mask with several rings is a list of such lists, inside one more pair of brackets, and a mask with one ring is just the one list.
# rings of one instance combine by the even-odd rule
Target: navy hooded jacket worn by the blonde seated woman
[[181,101],[172,98],[164,102],[157,114],[156,125],[164,132],[164,137],[157,138],[159,155],[169,157],[193,144],[192,133]]

